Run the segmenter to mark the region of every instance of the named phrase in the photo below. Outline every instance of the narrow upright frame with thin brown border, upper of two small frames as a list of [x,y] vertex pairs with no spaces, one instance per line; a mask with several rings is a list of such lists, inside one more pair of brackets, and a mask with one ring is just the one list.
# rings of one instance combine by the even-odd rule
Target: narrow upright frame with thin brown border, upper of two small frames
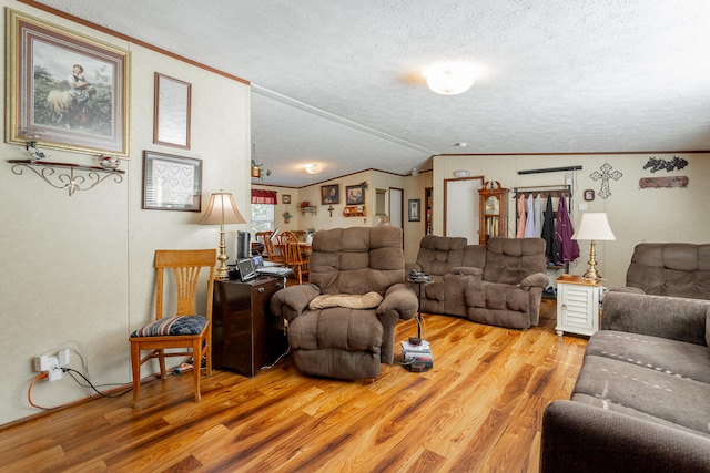
[[190,150],[192,85],[155,73],[153,143]]

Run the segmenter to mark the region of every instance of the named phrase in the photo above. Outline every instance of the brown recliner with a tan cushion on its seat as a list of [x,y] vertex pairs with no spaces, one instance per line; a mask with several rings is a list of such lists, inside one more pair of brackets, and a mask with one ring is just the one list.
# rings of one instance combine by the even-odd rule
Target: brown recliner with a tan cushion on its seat
[[402,229],[392,226],[315,234],[311,284],[287,287],[271,299],[273,313],[288,321],[296,368],[313,376],[374,379],[381,362],[394,361],[394,327],[417,310],[417,297],[404,282],[402,241]]

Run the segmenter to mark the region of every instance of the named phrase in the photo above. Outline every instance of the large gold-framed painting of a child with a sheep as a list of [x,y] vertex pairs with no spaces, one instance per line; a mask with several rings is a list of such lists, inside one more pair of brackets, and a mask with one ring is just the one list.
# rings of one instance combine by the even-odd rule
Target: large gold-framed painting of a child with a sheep
[[130,53],[6,14],[6,142],[128,158]]

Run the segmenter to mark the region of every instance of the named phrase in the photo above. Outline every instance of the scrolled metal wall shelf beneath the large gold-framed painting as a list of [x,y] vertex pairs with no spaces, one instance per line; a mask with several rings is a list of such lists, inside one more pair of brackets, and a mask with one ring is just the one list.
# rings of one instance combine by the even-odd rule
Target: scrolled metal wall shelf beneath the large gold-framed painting
[[[125,171],[110,169],[99,166],[85,166],[71,163],[50,163],[32,160],[8,160],[13,164],[12,172],[18,176],[28,168],[40,176],[47,184],[58,189],[68,189],[72,196],[77,191],[89,191],[113,176],[113,182],[123,182]],[[68,171],[58,171],[68,169]]]

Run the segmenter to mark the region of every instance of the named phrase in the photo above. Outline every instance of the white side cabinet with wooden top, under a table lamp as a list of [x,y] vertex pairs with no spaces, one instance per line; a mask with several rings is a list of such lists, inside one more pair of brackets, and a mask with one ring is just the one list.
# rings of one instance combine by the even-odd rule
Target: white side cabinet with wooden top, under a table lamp
[[600,281],[581,276],[560,276],[557,279],[557,335],[591,336],[599,330],[600,294]]

